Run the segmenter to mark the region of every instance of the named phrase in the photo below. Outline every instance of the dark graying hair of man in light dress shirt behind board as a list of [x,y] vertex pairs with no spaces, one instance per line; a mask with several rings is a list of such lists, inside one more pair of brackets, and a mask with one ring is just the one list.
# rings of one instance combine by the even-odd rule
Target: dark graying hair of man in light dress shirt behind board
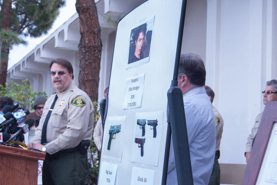
[[187,75],[192,85],[205,85],[206,69],[203,60],[197,54],[181,54],[178,78]]

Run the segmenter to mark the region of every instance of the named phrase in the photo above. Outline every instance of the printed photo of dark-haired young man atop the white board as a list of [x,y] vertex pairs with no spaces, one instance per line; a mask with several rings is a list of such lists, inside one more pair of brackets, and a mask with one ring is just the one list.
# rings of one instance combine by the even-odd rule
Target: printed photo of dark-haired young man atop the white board
[[149,62],[153,25],[154,17],[131,30],[126,69]]

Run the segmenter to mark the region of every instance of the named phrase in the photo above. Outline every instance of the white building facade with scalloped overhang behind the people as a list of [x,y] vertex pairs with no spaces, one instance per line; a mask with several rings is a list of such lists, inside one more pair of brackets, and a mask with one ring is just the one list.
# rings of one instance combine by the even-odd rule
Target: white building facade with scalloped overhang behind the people
[[[95,2],[103,45],[98,87],[101,100],[109,85],[116,30],[109,20],[117,21],[143,0]],[[202,57],[206,85],[215,92],[213,105],[224,119],[219,159],[222,183],[240,183],[246,166],[246,139],[256,115],[264,108],[261,91],[266,81],[277,78],[276,10],[274,0],[187,1],[182,53]],[[66,58],[78,76],[79,40],[76,13],[12,66],[7,82],[28,78],[35,91],[45,91],[49,96],[54,91],[49,76],[52,59]],[[78,78],[74,83],[78,86]]]

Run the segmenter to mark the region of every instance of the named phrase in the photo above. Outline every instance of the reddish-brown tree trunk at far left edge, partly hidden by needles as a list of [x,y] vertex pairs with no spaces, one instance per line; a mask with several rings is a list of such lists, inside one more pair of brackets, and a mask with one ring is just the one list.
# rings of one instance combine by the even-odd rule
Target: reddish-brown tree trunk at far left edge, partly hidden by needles
[[[12,9],[12,0],[3,0],[1,7],[2,15],[2,29],[10,30],[11,27],[11,9]],[[0,63],[0,84],[6,87],[6,78],[8,70],[8,59],[9,59],[9,48],[1,47],[1,63]]]

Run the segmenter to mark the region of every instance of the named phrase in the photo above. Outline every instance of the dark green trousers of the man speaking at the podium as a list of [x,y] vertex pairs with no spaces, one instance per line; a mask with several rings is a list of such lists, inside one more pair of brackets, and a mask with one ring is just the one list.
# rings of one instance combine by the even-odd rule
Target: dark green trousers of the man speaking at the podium
[[42,166],[42,184],[87,184],[88,170],[87,154],[82,155],[80,151],[46,155]]

